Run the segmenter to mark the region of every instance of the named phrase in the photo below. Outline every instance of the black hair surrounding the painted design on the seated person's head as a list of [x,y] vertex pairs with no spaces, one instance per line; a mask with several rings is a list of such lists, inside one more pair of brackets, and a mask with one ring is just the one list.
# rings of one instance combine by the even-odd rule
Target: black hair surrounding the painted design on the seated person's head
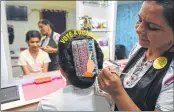
[[[61,34],[58,43],[58,51],[59,51],[59,63],[60,67],[64,72],[67,73],[67,78],[71,82],[71,84],[78,88],[88,88],[93,85],[95,82],[96,76],[94,75],[92,78],[79,77],[76,75],[75,64],[73,60],[72,53],[72,41],[74,40],[83,40],[83,39],[93,39],[90,36],[84,35],[73,35],[71,39],[69,39],[66,43],[62,43],[61,39],[68,33],[73,32],[74,30],[68,30]],[[93,39],[94,40],[94,39]],[[94,40],[94,46],[96,51],[96,59],[98,64],[98,69],[103,68],[103,53],[101,48],[98,46],[96,40]],[[97,74],[96,74],[97,75]]]

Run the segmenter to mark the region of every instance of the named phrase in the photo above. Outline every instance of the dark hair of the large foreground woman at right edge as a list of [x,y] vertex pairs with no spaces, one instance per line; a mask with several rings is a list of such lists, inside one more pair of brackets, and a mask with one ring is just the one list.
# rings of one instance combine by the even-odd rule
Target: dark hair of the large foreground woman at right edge
[[163,7],[163,15],[168,25],[174,31],[174,0],[153,0]]

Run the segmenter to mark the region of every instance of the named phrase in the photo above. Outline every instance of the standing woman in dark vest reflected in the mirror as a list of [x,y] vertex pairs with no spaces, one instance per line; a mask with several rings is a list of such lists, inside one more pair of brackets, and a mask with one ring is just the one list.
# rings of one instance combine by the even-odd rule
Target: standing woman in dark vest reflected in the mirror
[[41,48],[49,54],[51,59],[48,71],[57,70],[59,65],[57,45],[60,34],[54,32],[54,26],[48,20],[40,20],[38,26],[41,33],[44,35],[41,41]]

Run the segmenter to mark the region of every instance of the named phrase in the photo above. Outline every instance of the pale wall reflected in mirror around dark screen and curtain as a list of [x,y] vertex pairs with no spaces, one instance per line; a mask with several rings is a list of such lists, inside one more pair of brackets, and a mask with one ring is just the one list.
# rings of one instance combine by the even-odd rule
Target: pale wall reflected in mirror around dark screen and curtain
[[[43,1],[44,2],[44,1]],[[34,4],[34,2],[7,2],[9,5],[24,5],[28,7],[28,21],[7,21],[8,24],[14,25],[14,33],[15,39],[12,45],[10,45],[10,49],[16,50],[21,47],[28,47],[25,42],[25,33],[31,29],[38,29],[37,23],[40,20],[40,12],[39,11],[31,11],[31,9],[60,9],[60,10],[67,10],[69,13],[67,14],[66,21],[67,21],[67,29],[76,28],[76,13],[75,9],[67,9],[67,8],[59,8],[60,4],[56,5],[47,5],[46,3],[43,4]],[[53,4],[53,3],[52,3]],[[63,4],[64,5],[64,4]],[[63,7],[63,6],[62,6]],[[72,7],[72,6],[71,6]]]

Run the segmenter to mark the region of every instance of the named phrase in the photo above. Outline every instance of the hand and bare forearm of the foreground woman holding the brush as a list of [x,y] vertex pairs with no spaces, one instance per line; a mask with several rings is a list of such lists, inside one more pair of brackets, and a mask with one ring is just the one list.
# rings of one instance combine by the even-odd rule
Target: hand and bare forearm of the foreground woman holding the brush
[[140,111],[123,88],[120,75],[112,67],[102,69],[98,82],[99,87],[111,95],[119,111]]

